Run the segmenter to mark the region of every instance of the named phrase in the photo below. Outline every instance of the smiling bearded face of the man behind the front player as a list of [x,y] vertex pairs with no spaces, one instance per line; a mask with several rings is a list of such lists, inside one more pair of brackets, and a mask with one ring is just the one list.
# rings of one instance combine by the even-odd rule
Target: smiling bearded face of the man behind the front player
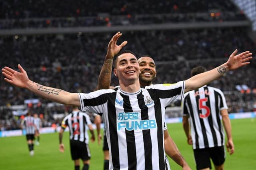
[[156,77],[156,64],[150,57],[140,57],[140,86],[149,86]]

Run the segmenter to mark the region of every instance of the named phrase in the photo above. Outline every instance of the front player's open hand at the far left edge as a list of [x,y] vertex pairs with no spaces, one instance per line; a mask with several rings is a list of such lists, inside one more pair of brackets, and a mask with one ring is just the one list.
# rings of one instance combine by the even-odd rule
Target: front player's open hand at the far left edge
[[26,88],[28,82],[27,72],[18,64],[20,72],[13,70],[9,67],[2,68],[2,74],[5,76],[4,80],[20,88]]

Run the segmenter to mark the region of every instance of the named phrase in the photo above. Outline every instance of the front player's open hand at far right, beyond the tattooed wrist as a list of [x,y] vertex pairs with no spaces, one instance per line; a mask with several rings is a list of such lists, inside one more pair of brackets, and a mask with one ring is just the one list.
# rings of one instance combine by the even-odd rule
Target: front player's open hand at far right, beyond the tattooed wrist
[[250,64],[250,60],[252,59],[252,53],[250,51],[245,51],[236,55],[237,49],[230,55],[227,66],[228,70],[235,70],[241,66]]

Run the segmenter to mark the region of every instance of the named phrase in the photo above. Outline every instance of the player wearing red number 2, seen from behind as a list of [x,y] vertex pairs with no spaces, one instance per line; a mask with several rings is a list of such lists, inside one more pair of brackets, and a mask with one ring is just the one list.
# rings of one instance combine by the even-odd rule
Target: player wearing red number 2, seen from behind
[[90,140],[87,133],[88,127],[92,134],[92,142],[95,140],[90,117],[86,113],[79,111],[76,106],[73,106],[72,113],[63,119],[61,127],[59,133],[60,152],[64,152],[62,137],[65,128],[68,127],[70,132],[70,152],[72,160],[74,160],[75,170],[80,170],[79,159],[82,159],[84,163],[82,170],[88,170],[91,157],[88,146]]

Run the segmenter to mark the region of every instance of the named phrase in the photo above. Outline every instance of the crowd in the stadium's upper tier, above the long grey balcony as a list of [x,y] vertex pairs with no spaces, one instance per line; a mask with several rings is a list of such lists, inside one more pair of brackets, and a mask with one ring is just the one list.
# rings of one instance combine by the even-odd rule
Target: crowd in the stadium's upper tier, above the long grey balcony
[[[231,1],[0,1],[0,29],[246,20]],[[36,7],[36,8],[35,8]]]

